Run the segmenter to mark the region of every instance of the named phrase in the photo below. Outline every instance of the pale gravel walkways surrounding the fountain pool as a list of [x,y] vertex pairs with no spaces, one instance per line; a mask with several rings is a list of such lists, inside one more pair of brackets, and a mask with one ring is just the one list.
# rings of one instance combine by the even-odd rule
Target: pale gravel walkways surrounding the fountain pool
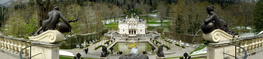
[[[126,40],[120,40],[118,38],[116,38],[116,41],[126,41]],[[137,41],[137,40],[135,40]],[[150,38],[146,38],[146,40],[139,40],[139,41],[150,41]],[[183,50],[179,50],[179,47],[175,45],[175,43],[173,44],[169,44],[169,42],[166,43],[166,41],[164,40],[158,40],[159,42],[161,42],[162,44],[165,44],[165,45],[170,45],[169,47],[171,48],[171,50],[166,50],[165,47],[163,47],[163,52],[165,54],[167,53],[173,53],[173,52],[176,52],[174,54],[171,54],[171,55],[165,55],[165,58],[169,58],[169,57],[178,57],[178,56],[183,56],[184,53],[190,53],[194,50],[194,48],[191,48],[191,47],[186,47],[186,48],[183,48]],[[105,40],[106,42],[106,40]],[[81,54],[81,57],[85,57],[85,58],[100,58],[100,52],[102,52],[102,48],[98,48],[97,50],[94,50],[95,47],[97,47],[98,45],[101,45],[103,44],[104,45],[104,40],[100,41],[100,42],[97,42],[96,44],[90,44],[90,46],[88,46],[89,48],[89,51],[88,53],[92,53],[92,54],[98,54],[98,55],[91,55],[91,54],[87,54],[85,55],[85,52],[83,49],[79,49],[79,48],[75,48],[75,49],[71,49],[71,50],[63,50],[63,51],[68,51],[68,52],[71,52],[73,53],[74,55],[76,55],[77,53],[80,53]],[[111,42],[110,42],[111,44]],[[107,45],[105,45],[107,46]],[[158,43],[158,46],[160,46],[160,44]],[[199,55],[200,56],[200,55]],[[205,55],[204,55],[205,56]],[[193,56],[193,57],[198,57],[198,56]],[[119,56],[110,56],[110,59],[118,59]],[[149,59],[155,59],[155,55],[152,55],[152,56],[149,56]]]

